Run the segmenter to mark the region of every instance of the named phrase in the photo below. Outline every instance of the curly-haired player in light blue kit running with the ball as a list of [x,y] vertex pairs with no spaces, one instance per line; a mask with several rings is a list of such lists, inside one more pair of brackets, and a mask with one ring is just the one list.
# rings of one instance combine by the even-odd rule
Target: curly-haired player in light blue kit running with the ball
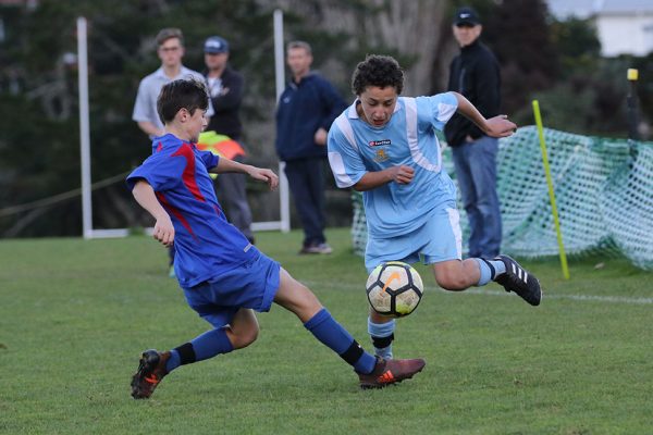
[[[538,279],[507,256],[461,260],[456,187],[442,170],[435,129],[456,112],[488,136],[506,137],[506,115],[485,120],[457,92],[399,97],[404,73],[390,57],[369,55],[352,78],[356,101],[329,132],[329,162],[338,187],[362,191],[368,225],[365,265],[399,260],[431,264],[435,281],[459,291],[490,281],[540,304]],[[395,321],[370,309],[368,332],[378,356],[392,358]]]

